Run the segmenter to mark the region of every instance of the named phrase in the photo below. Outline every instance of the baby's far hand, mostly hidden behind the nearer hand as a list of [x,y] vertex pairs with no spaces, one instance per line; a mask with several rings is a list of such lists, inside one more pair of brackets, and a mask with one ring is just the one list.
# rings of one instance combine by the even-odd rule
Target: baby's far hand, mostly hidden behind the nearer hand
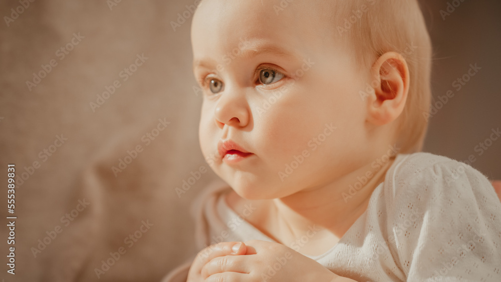
[[220,242],[202,249],[198,252],[191,264],[188,271],[187,282],[206,281],[206,277],[201,276],[201,269],[207,262],[211,261],[211,259],[220,256],[224,257],[226,255],[245,254],[245,251],[245,244],[242,242]]

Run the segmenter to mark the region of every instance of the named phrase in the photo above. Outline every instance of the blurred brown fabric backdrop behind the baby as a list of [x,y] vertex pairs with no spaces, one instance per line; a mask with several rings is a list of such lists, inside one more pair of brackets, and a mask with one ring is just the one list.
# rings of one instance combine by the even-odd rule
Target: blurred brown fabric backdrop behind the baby
[[[208,169],[191,71],[194,3],[0,3],[5,281],[94,281],[96,269],[101,281],[159,281],[195,252],[189,204],[217,177],[209,170],[181,197],[175,191]],[[501,139],[477,146],[501,127],[501,2],[422,4],[435,51],[434,102],[454,93],[431,117],[424,151],[474,155],[473,167],[500,179]],[[470,64],[481,69],[458,90],[454,81]],[[16,275],[6,265],[8,164],[19,180]]]

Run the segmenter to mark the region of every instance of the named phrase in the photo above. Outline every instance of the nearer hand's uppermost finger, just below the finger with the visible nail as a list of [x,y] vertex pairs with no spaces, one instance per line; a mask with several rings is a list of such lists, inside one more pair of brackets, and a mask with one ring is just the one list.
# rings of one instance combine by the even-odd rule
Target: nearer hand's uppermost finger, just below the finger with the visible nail
[[[222,272],[250,273],[246,255],[226,255],[212,258],[201,271],[202,278]],[[247,263],[245,263],[247,262]]]

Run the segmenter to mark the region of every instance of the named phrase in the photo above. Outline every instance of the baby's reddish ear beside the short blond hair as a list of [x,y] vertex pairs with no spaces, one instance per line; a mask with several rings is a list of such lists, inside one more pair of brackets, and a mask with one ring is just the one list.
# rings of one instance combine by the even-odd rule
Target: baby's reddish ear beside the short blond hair
[[402,55],[388,52],[372,66],[374,92],[367,99],[367,120],[375,125],[394,121],[403,111],[409,92],[409,69]]

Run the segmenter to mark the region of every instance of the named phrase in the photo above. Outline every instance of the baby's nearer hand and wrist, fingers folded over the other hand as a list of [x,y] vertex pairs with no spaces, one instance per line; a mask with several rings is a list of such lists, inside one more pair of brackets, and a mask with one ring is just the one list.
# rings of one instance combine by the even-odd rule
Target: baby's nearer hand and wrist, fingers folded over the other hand
[[204,281],[354,281],[279,243],[245,242],[245,255],[213,256],[201,270]]

